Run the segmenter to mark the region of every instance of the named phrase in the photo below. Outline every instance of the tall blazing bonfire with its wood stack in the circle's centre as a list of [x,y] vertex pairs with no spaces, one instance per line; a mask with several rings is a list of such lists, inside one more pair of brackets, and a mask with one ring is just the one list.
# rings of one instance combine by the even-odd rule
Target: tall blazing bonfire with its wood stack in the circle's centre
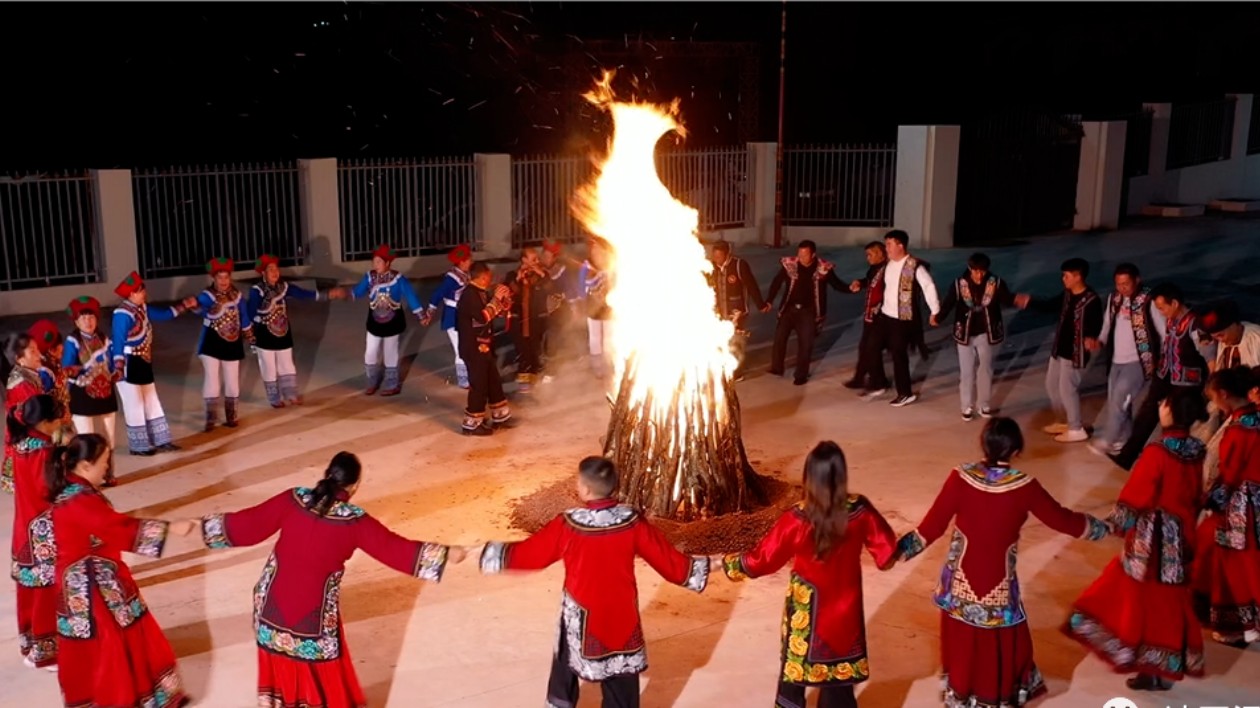
[[616,101],[612,72],[585,98],[609,112],[612,137],[573,210],[609,244],[614,389],[604,455],[622,501],[694,520],[747,510],[757,476],[740,432],[735,328],[717,316],[697,210],[656,173],[656,142],[675,134],[679,102]]

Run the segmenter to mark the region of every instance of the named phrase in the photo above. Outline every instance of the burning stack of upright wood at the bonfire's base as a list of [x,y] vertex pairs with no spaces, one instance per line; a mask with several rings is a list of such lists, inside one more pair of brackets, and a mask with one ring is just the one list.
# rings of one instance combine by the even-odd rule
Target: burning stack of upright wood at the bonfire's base
[[[679,522],[765,504],[743,448],[733,382],[707,372],[699,385],[688,385],[687,374],[680,374],[662,414],[651,394],[638,401],[631,396],[636,370],[631,357],[612,402],[604,445],[604,456],[621,470],[622,501]],[[683,392],[688,392],[685,398]]]

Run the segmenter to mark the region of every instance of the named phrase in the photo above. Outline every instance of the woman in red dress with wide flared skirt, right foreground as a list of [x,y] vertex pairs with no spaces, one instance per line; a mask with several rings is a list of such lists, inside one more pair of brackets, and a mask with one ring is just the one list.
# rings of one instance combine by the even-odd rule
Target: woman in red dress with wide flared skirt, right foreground
[[1197,391],[1159,404],[1163,440],[1147,445],[1108,519],[1124,551],[1076,601],[1067,631],[1116,671],[1137,671],[1131,690],[1167,690],[1203,675],[1203,627],[1194,617],[1189,561],[1203,475],[1206,418]]

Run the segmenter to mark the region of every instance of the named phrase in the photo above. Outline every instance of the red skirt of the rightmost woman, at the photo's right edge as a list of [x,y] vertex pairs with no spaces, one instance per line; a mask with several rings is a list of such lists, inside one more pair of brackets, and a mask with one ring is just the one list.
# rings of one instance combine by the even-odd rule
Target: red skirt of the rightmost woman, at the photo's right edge
[[1223,517],[1212,514],[1198,527],[1194,553],[1194,605],[1200,619],[1226,637],[1260,630],[1260,548],[1234,551],[1216,543]]

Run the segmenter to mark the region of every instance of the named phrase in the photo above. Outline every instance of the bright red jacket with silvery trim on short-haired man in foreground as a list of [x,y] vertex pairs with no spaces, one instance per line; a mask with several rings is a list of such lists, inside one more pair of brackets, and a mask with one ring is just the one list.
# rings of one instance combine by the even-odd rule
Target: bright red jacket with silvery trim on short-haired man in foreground
[[519,543],[488,543],[481,572],[537,571],[563,561],[570,666],[597,682],[648,668],[635,556],[674,585],[702,592],[708,583],[708,558],[679,553],[638,511],[612,499],[570,509]]

